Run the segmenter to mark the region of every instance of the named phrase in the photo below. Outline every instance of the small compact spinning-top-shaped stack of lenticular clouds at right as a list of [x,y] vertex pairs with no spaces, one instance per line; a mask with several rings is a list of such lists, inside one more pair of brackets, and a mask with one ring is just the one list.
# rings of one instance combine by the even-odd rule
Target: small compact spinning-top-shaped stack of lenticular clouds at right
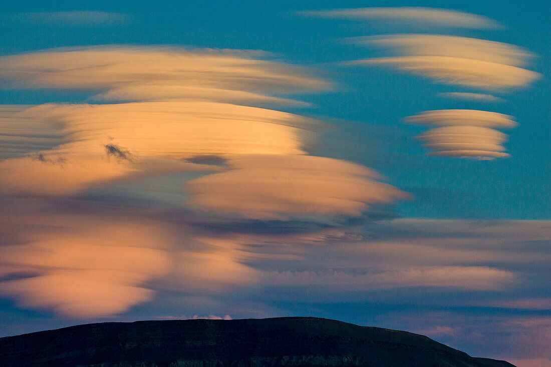
[[516,122],[511,116],[478,110],[426,111],[406,118],[416,125],[436,126],[419,138],[432,155],[503,158],[507,136],[494,128],[511,128]]

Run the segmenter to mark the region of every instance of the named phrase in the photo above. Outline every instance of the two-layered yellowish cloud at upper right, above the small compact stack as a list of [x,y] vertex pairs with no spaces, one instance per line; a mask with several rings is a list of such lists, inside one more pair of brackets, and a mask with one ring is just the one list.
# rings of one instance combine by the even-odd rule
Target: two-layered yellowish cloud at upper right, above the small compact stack
[[422,75],[444,84],[487,90],[525,87],[541,77],[519,66],[532,54],[501,42],[458,36],[402,34],[353,39],[386,47],[396,57],[370,58],[353,64],[382,65]]

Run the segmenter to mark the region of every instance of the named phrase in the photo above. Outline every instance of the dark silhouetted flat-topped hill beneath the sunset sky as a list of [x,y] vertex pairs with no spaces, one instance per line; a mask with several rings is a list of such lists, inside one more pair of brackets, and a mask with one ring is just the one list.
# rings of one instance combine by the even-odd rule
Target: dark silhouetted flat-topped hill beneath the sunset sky
[[428,337],[315,317],[105,322],[0,339],[1,365],[495,366]]

